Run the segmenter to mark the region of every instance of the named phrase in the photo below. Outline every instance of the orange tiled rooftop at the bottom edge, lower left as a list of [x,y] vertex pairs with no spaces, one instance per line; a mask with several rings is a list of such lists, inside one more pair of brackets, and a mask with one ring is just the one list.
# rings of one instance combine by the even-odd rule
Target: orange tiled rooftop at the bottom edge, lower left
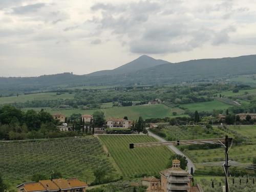
[[22,183],[18,192],[85,192],[87,184],[78,179],[53,179]]

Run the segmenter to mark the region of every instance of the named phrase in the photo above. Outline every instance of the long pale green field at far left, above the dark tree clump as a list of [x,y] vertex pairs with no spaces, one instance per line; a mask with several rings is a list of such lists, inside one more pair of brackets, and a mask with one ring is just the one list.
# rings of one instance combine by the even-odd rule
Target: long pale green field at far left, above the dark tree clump
[[70,99],[74,98],[75,94],[63,93],[56,95],[56,93],[35,93],[29,95],[19,95],[12,97],[0,97],[0,104],[14,103],[14,102],[26,102],[33,100],[54,100],[54,99]]

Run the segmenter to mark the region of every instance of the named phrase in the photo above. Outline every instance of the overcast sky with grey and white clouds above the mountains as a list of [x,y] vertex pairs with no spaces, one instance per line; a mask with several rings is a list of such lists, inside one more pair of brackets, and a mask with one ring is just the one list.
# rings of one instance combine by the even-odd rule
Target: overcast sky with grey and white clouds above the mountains
[[0,0],[0,76],[256,54],[256,0]]

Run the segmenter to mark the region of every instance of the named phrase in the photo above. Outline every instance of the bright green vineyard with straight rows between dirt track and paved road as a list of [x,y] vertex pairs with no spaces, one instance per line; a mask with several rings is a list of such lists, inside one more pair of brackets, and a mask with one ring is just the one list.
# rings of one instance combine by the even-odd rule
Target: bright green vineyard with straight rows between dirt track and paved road
[[173,155],[166,146],[129,149],[129,143],[154,142],[153,137],[144,135],[100,135],[110,155],[124,177],[157,175],[166,168],[168,158]]

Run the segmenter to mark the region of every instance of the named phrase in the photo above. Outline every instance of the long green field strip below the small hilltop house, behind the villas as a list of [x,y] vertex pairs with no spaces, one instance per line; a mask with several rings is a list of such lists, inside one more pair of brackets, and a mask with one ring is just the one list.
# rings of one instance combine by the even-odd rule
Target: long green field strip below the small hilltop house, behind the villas
[[[105,106],[110,105],[105,104]],[[29,108],[34,110],[41,110],[41,108]],[[115,118],[123,118],[127,116],[129,119],[138,119],[139,116],[143,117],[143,119],[147,118],[164,118],[173,116],[173,112],[177,112],[177,114],[183,113],[183,110],[179,108],[169,108],[164,104],[157,105],[136,105],[136,106],[115,106],[112,108],[105,109],[95,109],[95,110],[80,110],[80,109],[71,109],[71,110],[52,110],[50,108],[43,108],[45,111],[48,111],[51,114],[61,113],[67,116],[72,115],[73,113],[80,114],[90,114],[92,115],[95,111],[102,111],[105,114],[105,118],[109,119],[111,117]],[[27,109],[24,109],[27,110]]]

